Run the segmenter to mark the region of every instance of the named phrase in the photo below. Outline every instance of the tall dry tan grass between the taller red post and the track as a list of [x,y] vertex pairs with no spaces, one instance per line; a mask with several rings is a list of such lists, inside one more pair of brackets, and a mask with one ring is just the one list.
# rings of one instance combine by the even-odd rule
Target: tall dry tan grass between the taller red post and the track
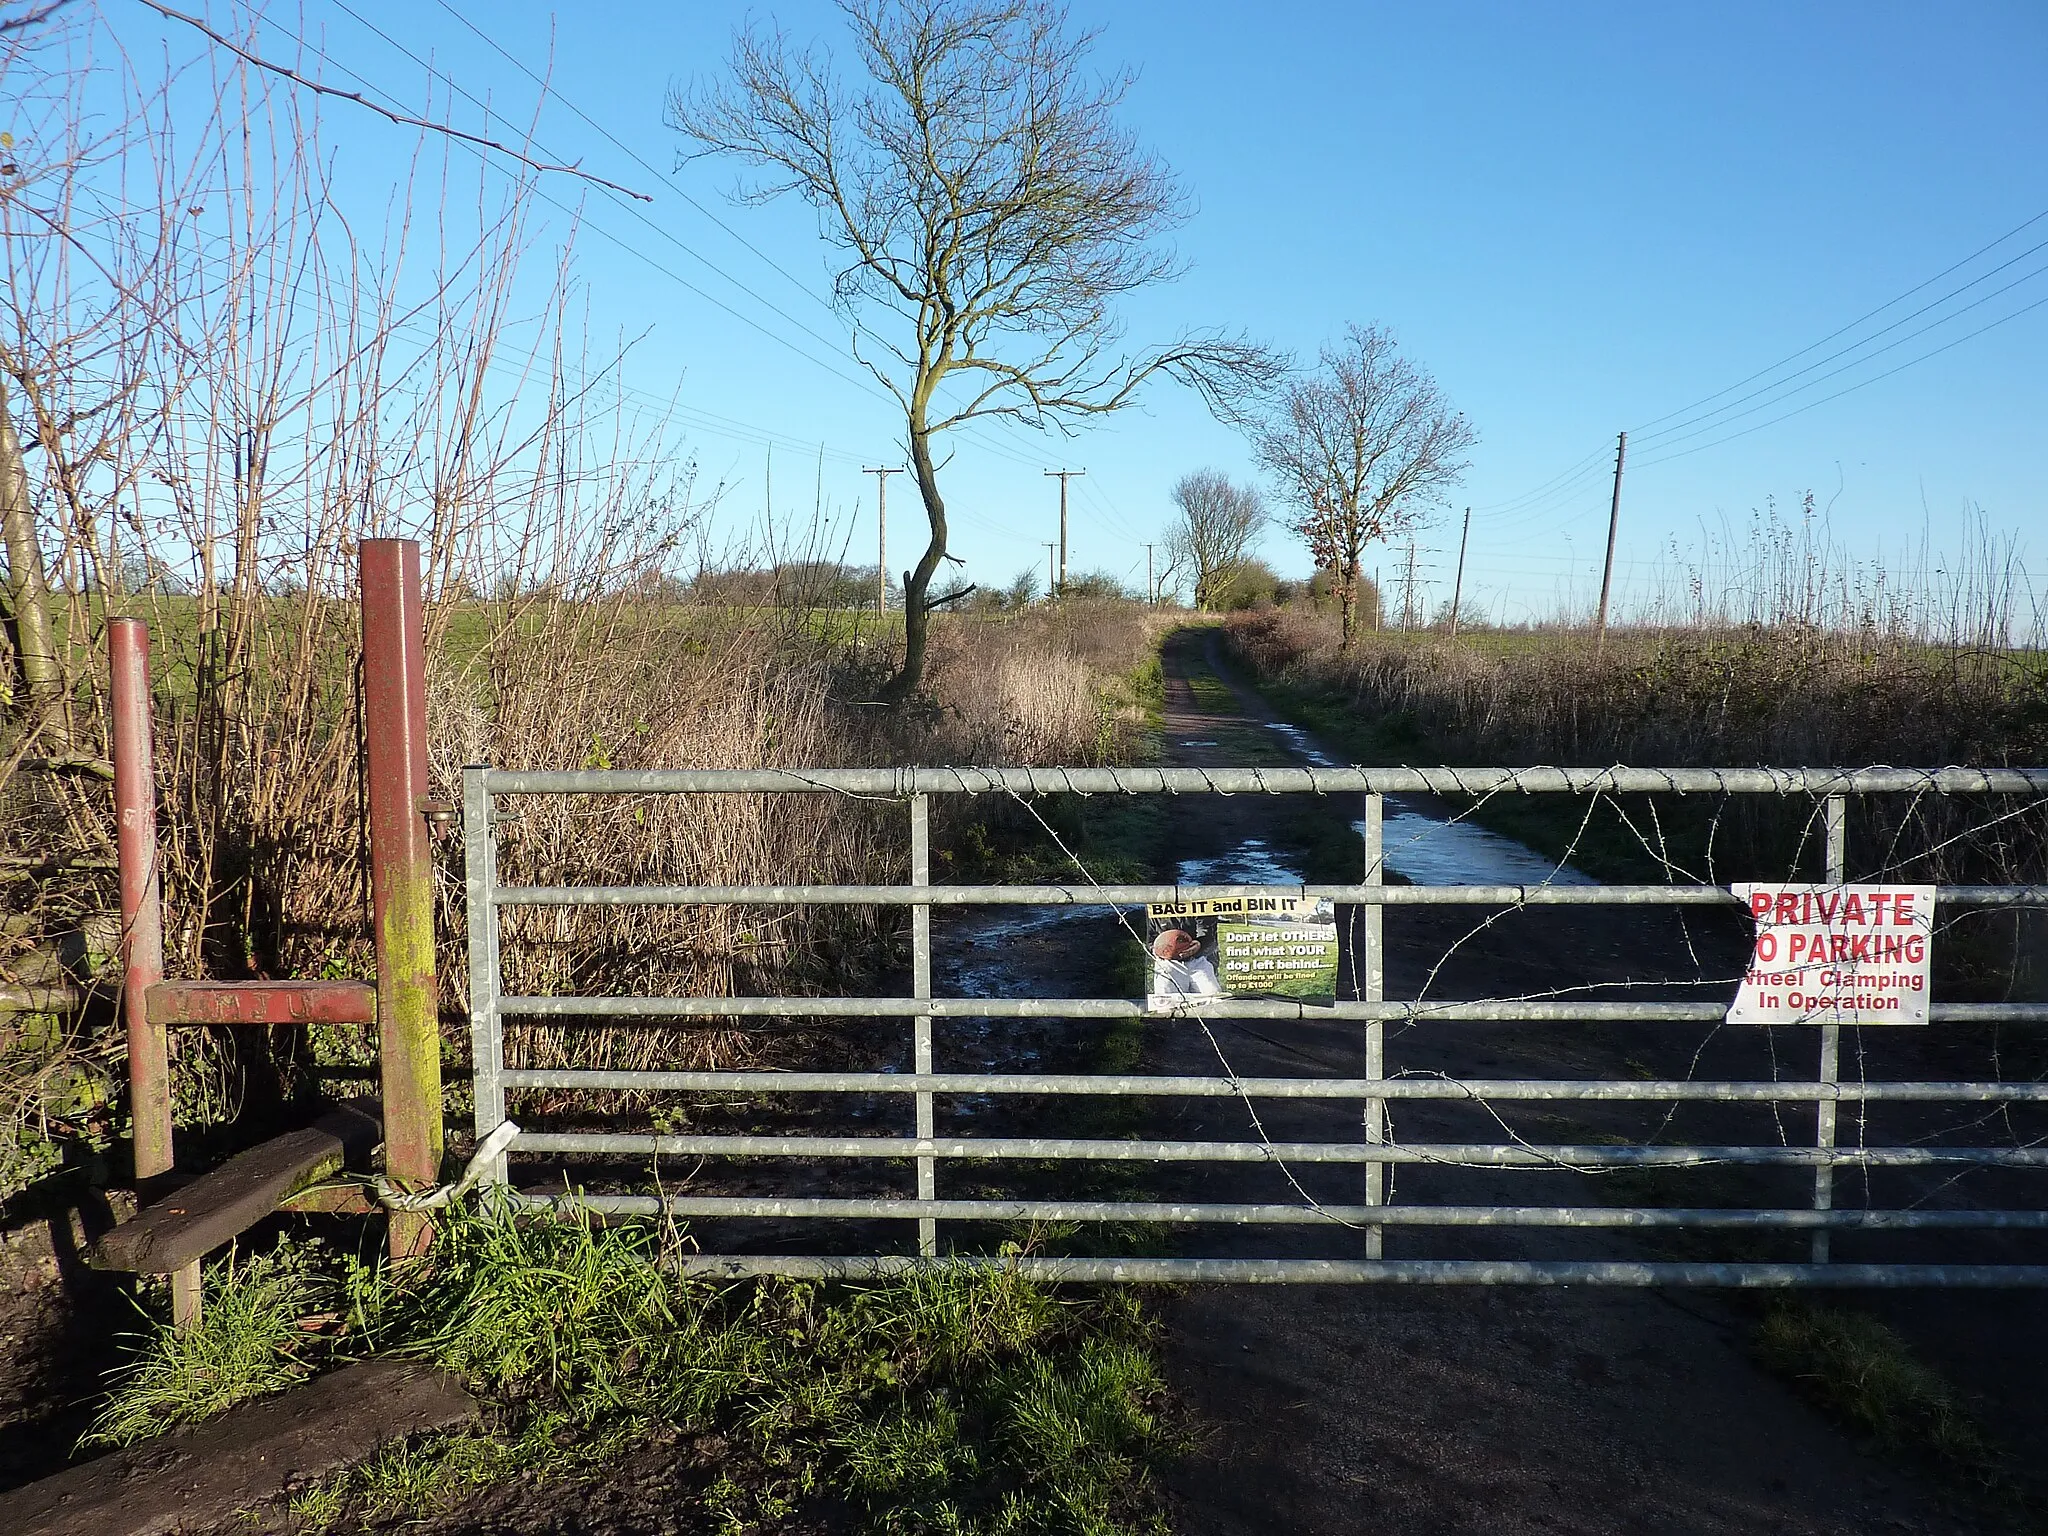
[[[602,629],[602,639],[600,631]],[[801,631],[795,631],[801,635]],[[922,711],[860,702],[872,666],[719,610],[592,612],[506,629],[489,668],[436,682],[434,768],[752,768],[887,762],[1053,764],[1114,754],[1137,721],[1118,684],[1157,627],[1135,606],[956,618],[940,627]],[[952,827],[952,811],[940,836]],[[975,811],[965,811],[973,815]],[[834,795],[532,797],[502,831],[502,877],[545,885],[883,883],[909,872],[901,805]],[[453,860],[455,850],[449,850]],[[446,870],[444,1006],[467,965]],[[858,991],[901,963],[903,913],[866,907],[539,907],[508,913],[520,993]],[[461,1030],[451,1030],[451,1038]],[[760,1030],[516,1026],[514,1065],[645,1067],[756,1059]]]

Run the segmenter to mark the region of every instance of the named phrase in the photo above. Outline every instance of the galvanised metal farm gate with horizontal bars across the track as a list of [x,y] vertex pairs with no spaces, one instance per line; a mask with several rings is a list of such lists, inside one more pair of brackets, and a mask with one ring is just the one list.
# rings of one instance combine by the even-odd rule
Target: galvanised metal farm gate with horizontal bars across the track
[[[537,795],[858,795],[901,801],[909,813],[909,885],[739,885],[739,887],[541,887],[498,883],[498,803]],[[1225,997],[1190,1008],[1202,1020],[1317,1020],[1356,1024],[1364,1071],[1356,1077],[1239,1077],[1137,1073],[934,1071],[934,1020],[1126,1020],[1155,1018],[1167,1028],[1178,1016],[1147,1014],[1141,999],[934,997],[932,909],[987,905],[1133,907],[1147,901],[1272,895],[1272,885],[932,885],[930,797],[934,795],[1358,795],[1364,805],[1366,879],[1352,885],[1300,885],[1305,897],[1352,903],[1356,913],[1356,999],[1300,1004]],[[1825,827],[1829,881],[1845,879],[1847,797],[2048,797],[2048,768],[852,768],[852,770],[676,770],[676,772],[508,772],[473,766],[463,776],[463,836],[469,913],[469,987],[475,1051],[475,1122],[479,1141],[506,1118],[506,1096],[555,1092],[739,1092],[901,1096],[913,1114],[911,1135],[659,1135],[526,1133],[510,1155],[600,1153],[610,1157],[696,1159],[893,1159],[915,1169],[915,1188],[899,1196],[743,1196],[743,1194],[553,1194],[518,1196],[553,1208],[608,1214],[672,1214],[678,1219],[815,1219],[915,1223],[915,1251],[874,1255],[700,1253],[690,1268],[711,1274],[870,1276],[918,1264],[1018,1264],[1032,1274],[1067,1280],[1280,1280],[1280,1282],[1495,1282],[1495,1284],[1710,1284],[1710,1286],[2042,1286],[2042,1264],[1837,1264],[1833,1233],[1907,1231],[2048,1231],[2042,1208],[1974,1208],[1909,1204],[1843,1208],[1835,1200],[1839,1169],[2048,1169],[2048,1145],[1839,1145],[1837,1108],[1868,1104],[1966,1104],[1987,1110],[2048,1104],[2048,1081],[1843,1081],[1841,1026],[1780,1028],[1780,1036],[1819,1036],[1817,1071],[1804,1081],[1708,1079],[1468,1079],[1386,1075],[1386,1024],[1458,1026],[1460,1022],[1640,1022],[1645,1026],[1714,1024],[1724,1001],[1559,1001],[1464,999],[1399,1001],[1384,997],[1382,909],[1391,905],[1460,907],[1737,907],[1731,891],[1710,885],[1389,885],[1382,883],[1384,795],[1769,795],[1810,797]],[[807,905],[877,903],[911,913],[913,987],[909,997],[520,997],[500,989],[500,911],[547,905]],[[2048,907],[2048,885],[1948,885],[1937,909]],[[1362,965],[1356,961],[1362,958]],[[907,1020],[911,1071],[580,1071],[508,1069],[504,1020],[674,1018],[862,1018]],[[1935,1001],[1929,1028],[1944,1024],[2048,1024],[2048,1004]],[[1280,1100],[1358,1102],[1354,1141],[1270,1141],[1264,1130],[1245,1141],[1159,1141],[1085,1137],[936,1135],[940,1096],[1147,1096],[1229,1098],[1247,1110]],[[1399,1102],[1534,1104],[1792,1104],[1812,1106],[1808,1145],[1538,1145],[1507,1135],[1479,1143],[1411,1143],[1389,1135],[1386,1106]],[[1255,1126],[1251,1114],[1247,1128]],[[1503,1122],[1505,1126],[1505,1122]],[[1348,1204],[1192,1202],[1192,1200],[1067,1200],[1067,1198],[938,1198],[942,1163],[969,1159],[1139,1161],[1139,1163],[1268,1163],[1309,1167],[1358,1165],[1358,1198]],[[1659,1169],[1659,1167],[1792,1167],[1810,1169],[1810,1204],[1796,1208],[1657,1206],[1657,1204],[1397,1204],[1386,1176],[1397,1165],[1532,1167],[1532,1169]],[[492,1178],[508,1182],[498,1159]],[[1288,1182],[1298,1190],[1290,1176]],[[1192,1227],[1356,1229],[1356,1257],[1049,1257],[991,1260],[950,1255],[940,1247],[940,1223],[1169,1223]],[[1636,1262],[1559,1257],[1384,1257],[1384,1233],[1395,1229],[1700,1229],[1808,1233],[1810,1262]]]

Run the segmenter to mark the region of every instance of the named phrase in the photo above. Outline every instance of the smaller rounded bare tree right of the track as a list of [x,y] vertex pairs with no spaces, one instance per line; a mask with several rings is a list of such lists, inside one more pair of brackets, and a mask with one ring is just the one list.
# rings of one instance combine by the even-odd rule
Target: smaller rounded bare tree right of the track
[[1442,502],[1479,434],[1386,328],[1350,326],[1313,373],[1276,391],[1251,440],[1294,508],[1290,526],[1331,573],[1350,647],[1366,545]]

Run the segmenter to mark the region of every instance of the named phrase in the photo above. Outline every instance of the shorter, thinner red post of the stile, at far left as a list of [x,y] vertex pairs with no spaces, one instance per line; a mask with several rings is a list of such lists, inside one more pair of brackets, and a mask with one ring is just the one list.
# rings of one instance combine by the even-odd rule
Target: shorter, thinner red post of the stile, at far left
[[[150,627],[106,623],[109,748],[115,762],[115,852],[121,866],[121,1020],[129,1051],[129,1149],[143,1196],[172,1167],[170,1040],[150,1020],[147,993],[164,979],[164,885],[156,862],[156,741],[150,711]],[[199,1321],[199,1266],[170,1276],[178,1327]]]

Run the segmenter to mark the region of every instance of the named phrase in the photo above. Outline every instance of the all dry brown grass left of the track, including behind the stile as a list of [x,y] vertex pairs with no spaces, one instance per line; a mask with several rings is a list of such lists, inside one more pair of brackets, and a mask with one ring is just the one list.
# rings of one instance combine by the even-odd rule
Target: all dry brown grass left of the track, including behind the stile
[[[334,604],[340,606],[340,604]],[[309,745],[289,801],[223,786],[197,795],[193,711],[160,721],[162,821],[172,850],[195,817],[236,850],[242,899],[213,940],[174,930],[188,975],[373,975],[367,930],[360,721],[344,647],[352,625],[324,616],[336,657],[297,690],[248,709],[256,741],[291,727]],[[1120,756],[1143,721],[1128,676],[1153,655],[1157,621],[1135,604],[1069,606],[1006,618],[950,618],[932,657],[932,696],[887,713],[862,702],[881,670],[831,625],[778,612],[645,604],[633,598],[440,604],[430,621],[428,735],[436,791],[459,799],[461,768],[743,768],[889,762],[1057,764]],[[451,643],[451,635],[455,641]],[[823,639],[819,635],[825,635]],[[172,635],[172,655],[176,655]],[[90,786],[78,791],[90,799]],[[283,815],[283,807],[293,807]],[[500,872],[545,885],[881,883],[909,872],[901,805],[831,795],[532,797],[508,803]],[[940,838],[963,817],[940,811]],[[12,823],[20,848],[25,821]],[[467,932],[461,846],[442,844],[440,983],[451,1067],[467,1061]],[[51,887],[55,889],[55,887]],[[188,911],[172,903],[172,913]],[[227,936],[221,936],[221,930]],[[506,915],[504,983],[520,993],[729,995],[858,991],[905,963],[903,913],[866,907],[532,907]],[[197,952],[195,952],[197,950]],[[104,1071],[106,1020],[78,1036]],[[242,1055],[184,1040],[180,1124],[231,1120],[258,1098],[317,1087],[328,1067],[373,1061],[352,1030],[279,1036]],[[709,1020],[508,1030],[512,1065],[743,1065],[815,1049],[778,1030]],[[78,1106],[72,1077],[23,1075],[20,1114]],[[61,1090],[61,1092],[59,1092]],[[86,1106],[90,1108],[90,1104]],[[27,1165],[20,1169],[29,1171]]]

